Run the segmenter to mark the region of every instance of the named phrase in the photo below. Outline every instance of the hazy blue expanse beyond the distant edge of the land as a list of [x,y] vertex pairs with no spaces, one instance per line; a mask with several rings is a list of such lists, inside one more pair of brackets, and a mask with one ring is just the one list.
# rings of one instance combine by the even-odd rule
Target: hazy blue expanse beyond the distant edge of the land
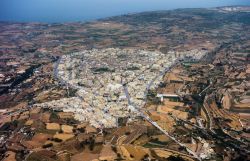
[[250,5],[250,0],[0,0],[0,21],[75,22],[143,11]]

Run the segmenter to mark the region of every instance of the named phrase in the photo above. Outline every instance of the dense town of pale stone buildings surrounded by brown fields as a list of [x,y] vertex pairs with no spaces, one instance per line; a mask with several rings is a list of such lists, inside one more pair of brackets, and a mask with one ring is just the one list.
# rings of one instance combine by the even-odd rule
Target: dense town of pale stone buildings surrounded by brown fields
[[95,127],[115,127],[119,117],[138,116],[147,91],[155,89],[165,71],[184,57],[200,59],[205,51],[149,52],[134,49],[85,50],[64,55],[55,76],[76,89],[76,97],[36,104],[75,113]]

